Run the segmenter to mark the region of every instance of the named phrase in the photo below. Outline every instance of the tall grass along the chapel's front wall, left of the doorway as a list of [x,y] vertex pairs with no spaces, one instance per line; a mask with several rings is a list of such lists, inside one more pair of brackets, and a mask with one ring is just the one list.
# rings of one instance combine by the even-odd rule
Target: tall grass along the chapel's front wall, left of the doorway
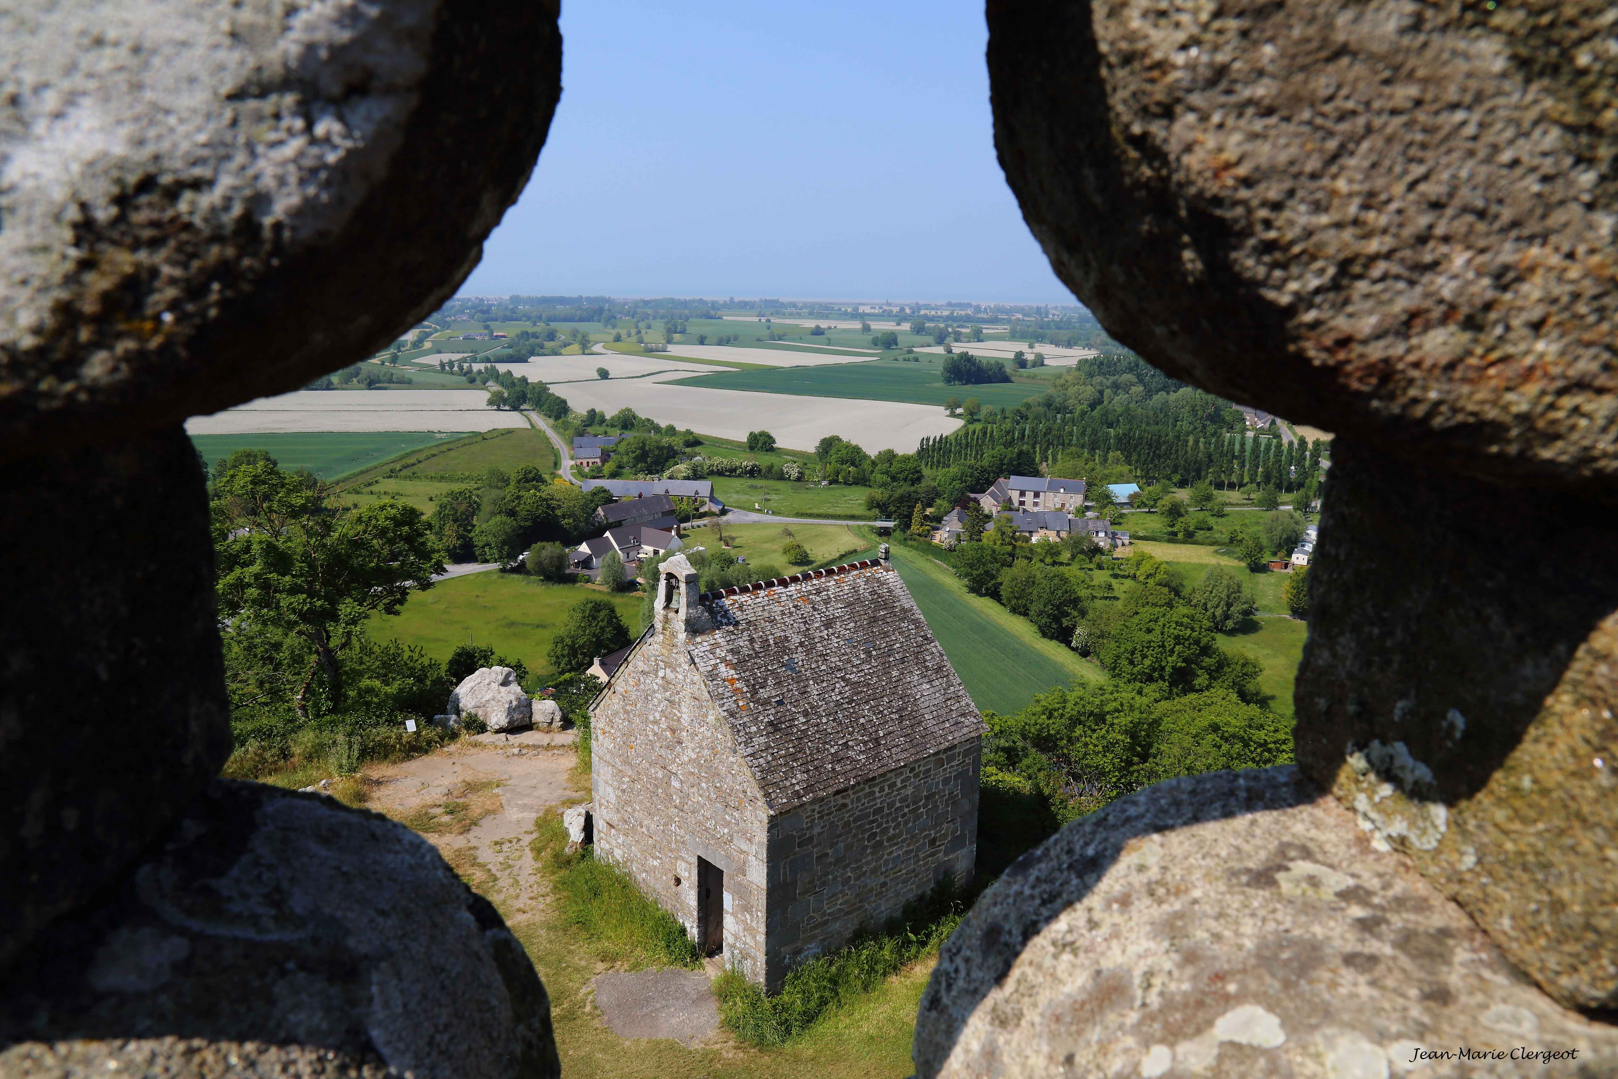
[[701,964],[675,916],[647,899],[623,870],[597,862],[592,848],[568,851],[561,814],[544,814],[529,849],[550,882],[557,916],[582,935],[597,959],[629,971]]

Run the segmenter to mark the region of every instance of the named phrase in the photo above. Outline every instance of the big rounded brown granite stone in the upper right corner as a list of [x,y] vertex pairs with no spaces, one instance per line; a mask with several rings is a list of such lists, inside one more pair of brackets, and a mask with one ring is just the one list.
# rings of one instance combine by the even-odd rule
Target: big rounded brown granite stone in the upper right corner
[[1479,476],[1618,477],[1607,0],[989,3],[1057,275],[1207,390]]

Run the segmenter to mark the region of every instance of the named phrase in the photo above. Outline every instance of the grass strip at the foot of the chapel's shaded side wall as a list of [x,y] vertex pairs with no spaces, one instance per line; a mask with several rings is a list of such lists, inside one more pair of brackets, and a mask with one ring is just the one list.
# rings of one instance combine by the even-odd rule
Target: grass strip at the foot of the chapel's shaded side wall
[[744,1042],[783,1045],[828,1011],[853,1003],[916,959],[935,953],[963,914],[953,880],[947,878],[932,895],[906,906],[896,925],[794,966],[775,996],[765,996],[741,972],[726,971],[714,982],[720,1019]]

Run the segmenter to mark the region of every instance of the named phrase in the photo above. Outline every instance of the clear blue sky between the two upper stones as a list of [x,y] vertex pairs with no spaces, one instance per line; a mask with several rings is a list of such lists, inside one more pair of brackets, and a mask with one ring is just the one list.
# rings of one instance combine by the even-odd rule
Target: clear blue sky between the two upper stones
[[1074,303],[995,160],[982,0],[565,0],[561,32],[463,294]]

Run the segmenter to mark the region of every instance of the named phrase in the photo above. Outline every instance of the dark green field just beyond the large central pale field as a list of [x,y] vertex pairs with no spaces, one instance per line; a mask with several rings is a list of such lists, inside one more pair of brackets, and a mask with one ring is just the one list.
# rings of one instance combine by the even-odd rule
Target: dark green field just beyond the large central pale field
[[[943,359],[937,356],[935,359]],[[676,379],[668,385],[710,387],[714,390],[754,390],[759,393],[796,393],[801,396],[843,396],[866,401],[909,401],[943,404],[947,400],[977,398],[984,404],[1010,408],[1044,391],[1032,385],[998,382],[979,387],[947,387],[938,364],[901,364],[869,361],[862,364],[827,364],[824,367],[777,367],[773,370],[738,370]]]

